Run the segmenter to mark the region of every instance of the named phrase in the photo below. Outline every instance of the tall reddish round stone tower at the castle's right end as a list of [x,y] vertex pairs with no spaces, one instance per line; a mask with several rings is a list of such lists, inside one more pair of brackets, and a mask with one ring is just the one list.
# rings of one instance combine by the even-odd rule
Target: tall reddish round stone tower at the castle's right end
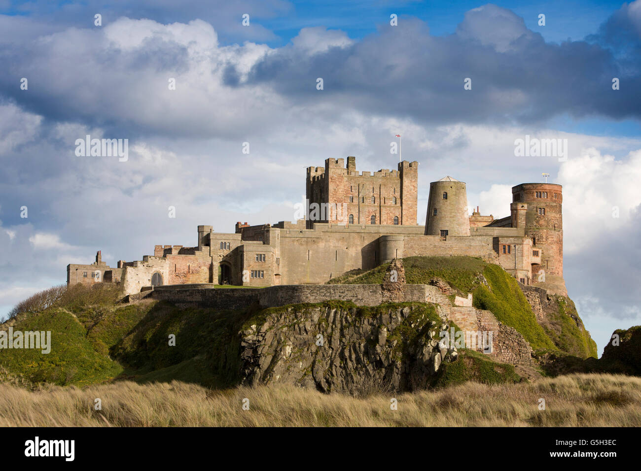
[[512,187],[512,202],[526,203],[525,235],[540,264],[532,265],[534,283],[565,292],[563,281],[563,187],[554,183],[521,183]]

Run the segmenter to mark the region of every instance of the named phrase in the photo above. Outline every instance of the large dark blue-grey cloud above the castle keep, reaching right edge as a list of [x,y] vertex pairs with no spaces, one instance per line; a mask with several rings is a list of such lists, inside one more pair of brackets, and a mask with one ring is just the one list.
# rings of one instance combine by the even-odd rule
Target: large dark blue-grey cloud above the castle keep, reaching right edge
[[[547,44],[520,17],[488,4],[446,37],[402,19],[347,47],[311,55],[280,48],[254,65],[246,85],[268,83],[292,100],[334,100],[420,122],[527,123],[566,113],[622,119],[641,117],[639,61],[626,57],[621,67],[611,47],[585,41]],[[617,92],[613,77],[622,83]],[[463,90],[465,78],[472,90]]]

